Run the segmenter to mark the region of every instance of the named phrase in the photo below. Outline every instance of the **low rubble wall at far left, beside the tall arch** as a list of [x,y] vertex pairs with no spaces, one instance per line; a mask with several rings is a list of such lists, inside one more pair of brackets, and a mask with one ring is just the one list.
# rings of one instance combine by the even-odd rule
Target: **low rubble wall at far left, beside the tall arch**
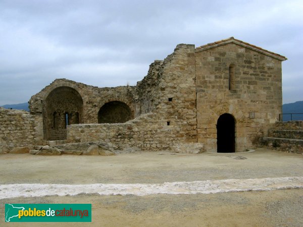
[[42,116],[0,107],[0,153],[42,143]]

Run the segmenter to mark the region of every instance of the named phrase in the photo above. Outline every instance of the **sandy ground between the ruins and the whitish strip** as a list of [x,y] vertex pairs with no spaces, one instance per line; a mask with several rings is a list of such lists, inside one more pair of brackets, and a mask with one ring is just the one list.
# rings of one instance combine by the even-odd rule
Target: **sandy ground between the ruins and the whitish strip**
[[[268,149],[241,155],[158,153],[116,156],[4,154],[0,155],[0,184],[161,184],[303,176],[301,154]],[[246,159],[235,159],[238,156]]]

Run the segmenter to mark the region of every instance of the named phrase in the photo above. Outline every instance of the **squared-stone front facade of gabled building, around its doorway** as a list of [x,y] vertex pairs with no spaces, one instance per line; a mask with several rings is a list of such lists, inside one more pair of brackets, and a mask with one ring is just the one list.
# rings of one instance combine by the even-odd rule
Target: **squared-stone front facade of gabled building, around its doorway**
[[[282,112],[281,61],[230,43],[197,49],[196,64],[198,142],[215,151],[217,120],[230,113],[236,122],[236,151],[259,146]],[[231,64],[234,84],[229,90]]]

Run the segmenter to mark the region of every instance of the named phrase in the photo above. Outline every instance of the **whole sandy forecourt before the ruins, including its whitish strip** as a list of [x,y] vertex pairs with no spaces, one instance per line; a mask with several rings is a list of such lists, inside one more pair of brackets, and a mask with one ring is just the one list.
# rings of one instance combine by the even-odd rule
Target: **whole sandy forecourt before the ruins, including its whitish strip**
[[[169,152],[121,153],[116,156],[4,154],[0,155],[0,225],[42,224],[5,223],[5,203],[91,203],[91,223],[43,225],[303,226],[302,177],[303,155],[268,149],[257,149],[252,153],[197,155],[172,155]],[[235,187],[234,192],[216,193],[229,187],[228,179],[235,179],[230,186]],[[264,184],[270,179],[275,184]],[[179,194],[159,191],[160,194],[138,196],[142,191],[132,189],[123,195],[123,190],[136,184],[140,184],[141,189],[146,185],[162,190],[166,182],[173,183]],[[192,184],[206,183],[217,186],[194,193]],[[41,184],[41,188],[44,184],[63,184],[69,188],[102,184],[108,190],[112,190],[113,185],[115,190],[117,185],[122,188],[116,193],[121,195],[111,195],[115,194],[112,191],[109,195],[98,195],[102,194],[100,191],[87,194],[79,189],[83,192],[75,196],[57,196],[57,192],[43,196],[37,189],[26,189],[29,194],[21,191],[21,195],[34,197],[20,197],[19,189],[14,191],[18,185],[12,184]],[[187,185],[187,191],[182,184]],[[256,191],[249,191],[249,187]],[[267,191],[258,190],[260,187],[267,187],[263,189]],[[57,194],[64,190],[68,191],[63,189]]]

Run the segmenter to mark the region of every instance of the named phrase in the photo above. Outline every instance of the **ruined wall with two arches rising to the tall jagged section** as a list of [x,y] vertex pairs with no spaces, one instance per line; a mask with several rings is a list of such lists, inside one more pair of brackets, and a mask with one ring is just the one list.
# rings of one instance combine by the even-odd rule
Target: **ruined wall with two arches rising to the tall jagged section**
[[[150,65],[147,76],[136,87],[98,88],[57,79],[32,96],[30,112],[43,113],[45,140],[66,139],[66,112],[72,116],[78,113],[80,124],[121,123],[153,112],[156,117],[150,125],[176,128],[176,138],[196,142],[194,51],[194,45],[177,45],[164,61]],[[119,103],[119,108],[111,103]],[[60,120],[57,126],[55,115]]]

